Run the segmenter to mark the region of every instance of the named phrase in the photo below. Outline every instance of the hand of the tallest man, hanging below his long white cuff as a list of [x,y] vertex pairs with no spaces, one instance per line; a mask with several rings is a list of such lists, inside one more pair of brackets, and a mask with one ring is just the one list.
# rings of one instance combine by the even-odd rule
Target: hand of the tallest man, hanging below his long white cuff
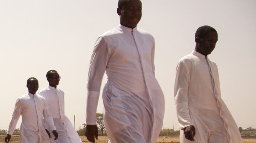
[[85,130],[85,136],[87,137],[87,140],[95,143],[95,138],[98,140],[98,127],[97,125],[86,125],[86,130]]

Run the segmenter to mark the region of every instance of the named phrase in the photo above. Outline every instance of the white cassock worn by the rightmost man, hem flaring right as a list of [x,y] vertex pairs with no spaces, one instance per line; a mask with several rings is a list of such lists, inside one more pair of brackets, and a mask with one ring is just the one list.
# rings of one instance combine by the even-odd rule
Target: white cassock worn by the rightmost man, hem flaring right
[[[194,125],[196,143],[241,143],[241,135],[221,99],[217,65],[193,51],[176,67],[175,106],[181,129]],[[181,143],[193,143],[180,132]]]

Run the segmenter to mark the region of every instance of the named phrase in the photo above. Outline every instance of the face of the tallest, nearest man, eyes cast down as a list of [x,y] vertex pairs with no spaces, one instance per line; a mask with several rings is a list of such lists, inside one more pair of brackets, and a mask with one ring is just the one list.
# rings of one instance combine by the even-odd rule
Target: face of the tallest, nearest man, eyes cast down
[[129,0],[123,5],[122,9],[117,9],[120,15],[120,24],[129,28],[137,26],[141,19],[142,4],[140,0]]

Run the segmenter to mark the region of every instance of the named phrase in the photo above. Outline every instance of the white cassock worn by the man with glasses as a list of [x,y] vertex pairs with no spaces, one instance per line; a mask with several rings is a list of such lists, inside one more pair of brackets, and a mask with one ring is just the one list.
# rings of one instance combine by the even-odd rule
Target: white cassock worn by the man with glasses
[[46,99],[59,134],[58,139],[54,141],[54,135],[51,133],[51,143],[82,143],[71,121],[65,116],[64,92],[58,87],[48,85],[38,94]]

